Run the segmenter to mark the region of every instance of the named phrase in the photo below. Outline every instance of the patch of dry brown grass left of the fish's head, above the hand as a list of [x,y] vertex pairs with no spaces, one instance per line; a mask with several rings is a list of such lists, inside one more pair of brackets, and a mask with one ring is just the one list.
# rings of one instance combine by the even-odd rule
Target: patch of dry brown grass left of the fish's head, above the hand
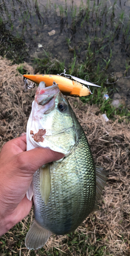
[[[23,77],[17,71],[18,65],[11,65],[11,61],[0,57],[0,148],[8,140],[19,136],[26,129],[31,111],[33,90],[22,92]],[[27,63],[24,69],[33,72]],[[35,90],[35,89],[34,89]]]

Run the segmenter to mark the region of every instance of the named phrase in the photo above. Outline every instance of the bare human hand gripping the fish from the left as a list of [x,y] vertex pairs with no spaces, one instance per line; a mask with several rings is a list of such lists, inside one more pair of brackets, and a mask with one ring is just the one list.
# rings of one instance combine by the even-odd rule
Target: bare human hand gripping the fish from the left
[[36,170],[63,154],[37,147],[26,151],[26,136],[8,141],[0,154],[0,236],[27,216],[33,201],[26,193]]

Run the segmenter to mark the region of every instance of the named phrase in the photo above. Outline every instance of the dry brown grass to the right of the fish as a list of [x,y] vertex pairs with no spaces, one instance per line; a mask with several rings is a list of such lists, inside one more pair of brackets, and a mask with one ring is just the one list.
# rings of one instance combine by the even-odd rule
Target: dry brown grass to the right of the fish
[[[101,202],[103,211],[95,213],[92,230],[104,236],[100,242],[106,244],[112,255],[130,255],[130,124],[118,123],[118,117],[116,121],[105,122],[96,106],[77,101],[77,118],[87,135],[95,163],[109,173]],[[86,227],[91,218],[84,222]]]

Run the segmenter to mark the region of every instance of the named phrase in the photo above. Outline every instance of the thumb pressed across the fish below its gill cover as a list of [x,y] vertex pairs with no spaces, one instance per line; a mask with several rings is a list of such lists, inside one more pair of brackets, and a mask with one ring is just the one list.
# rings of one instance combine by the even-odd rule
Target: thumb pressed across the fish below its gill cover
[[15,166],[22,170],[23,173],[34,174],[43,164],[57,161],[64,155],[50,150],[49,148],[36,147],[33,150],[22,152],[16,156]]

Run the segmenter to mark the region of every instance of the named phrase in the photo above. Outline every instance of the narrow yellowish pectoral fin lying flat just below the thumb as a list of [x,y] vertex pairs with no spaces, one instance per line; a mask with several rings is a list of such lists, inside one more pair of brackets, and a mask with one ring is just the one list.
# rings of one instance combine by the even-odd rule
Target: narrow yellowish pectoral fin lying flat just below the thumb
[[40,193],[42,200],[47,204],[50,195],[50,171],[49,164],[40,167]]

